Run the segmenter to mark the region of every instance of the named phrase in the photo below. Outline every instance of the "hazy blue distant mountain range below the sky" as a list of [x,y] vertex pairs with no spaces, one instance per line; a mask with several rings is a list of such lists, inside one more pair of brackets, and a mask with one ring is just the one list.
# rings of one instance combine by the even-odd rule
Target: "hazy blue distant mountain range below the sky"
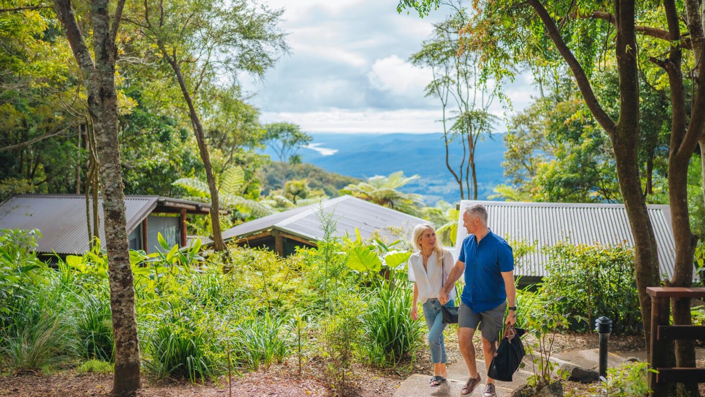
[[[460,200],[460,191],[453,175],[446,168],[443,134],[340,134],[309,133],[313,142],[298,152],[302,161],[324,170],[351,177],[372,177],[403,171],[404,175],[418,174],[401,190],[422,194],[428,204],[439,199],[450,203]],[[505,183],[502,134],[484,135],[475,154],[477,165],[477,197],[484,200],[498,184]],[[264,153],[276,160],[274,153]],[[458,170],[462,146],[450,144],[450,164]],[[472,182],[471,182],[472,183]]]

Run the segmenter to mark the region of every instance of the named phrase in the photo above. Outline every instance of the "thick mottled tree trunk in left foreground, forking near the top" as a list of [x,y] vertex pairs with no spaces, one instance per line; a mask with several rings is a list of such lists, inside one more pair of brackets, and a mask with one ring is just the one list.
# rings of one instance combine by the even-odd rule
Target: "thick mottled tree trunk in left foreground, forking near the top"
[[92,0],[90,22],[95,62],[76,22],[71,0],[54,0],[88,94],[103,185],[105,246],[108,252],[110,307],[115,340],[114,396],[133,395],[140,388],[140,344],[135,320],[135,289],[125,218],[125,194],[115,88],[115,39],[124,0],[118,0],[111,24],[109,0]]

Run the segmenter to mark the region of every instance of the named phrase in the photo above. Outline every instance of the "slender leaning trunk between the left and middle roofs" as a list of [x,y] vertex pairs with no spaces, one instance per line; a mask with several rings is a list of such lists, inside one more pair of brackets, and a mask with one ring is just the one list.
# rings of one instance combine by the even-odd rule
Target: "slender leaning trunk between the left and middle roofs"
[[206,179],[208,182],[208,189],[211,191],[211,223],[213,226],[213,242],[216,251],[223,251],[225,249],[225,242],[223,241],[223,234],[220,225],[220,201],[218,198],[218,187],[216,187],[216,179],[213,176],[213,167],[211,165],[211,158],[208,153],[208,146],[206,144],[206,134],[203,132],[203,126],[201,125],[201,120],[196,113],[196,108],[193,106],[193,101],[191,99],[191,94],[188,92],[186,87],[186,82],[181,74],[181,68],[176,61],[176,50],[170,55],[166,52],[166,47],[163,44],[159,44],[159,49],[161,53],[164,54],[166,61],[171,65],[171,68],[176,75],[176,80],[178,80],[179,87],[181,87],[181,94],[183,94],[183,99],[185,99],[188,104],[188,113],[191,118],[191,125],[193,127],[193,132],[196,135],[196,141],[198,143],[198,150],[201,154],[201,160],[203,160],[204,168],[206,169]]

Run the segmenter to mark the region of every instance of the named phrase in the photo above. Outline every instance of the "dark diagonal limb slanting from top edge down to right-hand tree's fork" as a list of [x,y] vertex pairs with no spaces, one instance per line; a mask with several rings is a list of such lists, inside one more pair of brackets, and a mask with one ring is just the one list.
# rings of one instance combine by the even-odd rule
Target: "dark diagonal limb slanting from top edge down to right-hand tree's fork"
[[551,15],[548,15],[548,11],[546,11],[546,8],[544,8],[543,4],[541,4],[539,0],[528,0],[527,3],[534,8],[537,14],[539,14],[539,18],[541,18],[541,21],[543,21],[544,26],[548,31],[548,37],[551,37],[551,40],[553,40],[553,44],[556,45],[558,52],[561,56],[563,56],[565,62],[568,63],[568,66],[570,67],[570,70],[572,70],[577,85],[580,88],[580,92],[585,100],[585,104],[590,109],[590,112],[594,116],[595,120],[600,123],[608,134],[612,134],[615,127],[615,122],[613,122],[602,106],[600,106],[599,101],[597,101],[595,93],[592,91],[590,82],[587,80],[585,71],[580,65],[580,62],[578,62],[575,58],[575,55],[573,55],[572,51],[570,51],[568,46],[565,44],[565,41],[563,41],[563,37],[560,36],[556,22],[553,18],[551,18]]

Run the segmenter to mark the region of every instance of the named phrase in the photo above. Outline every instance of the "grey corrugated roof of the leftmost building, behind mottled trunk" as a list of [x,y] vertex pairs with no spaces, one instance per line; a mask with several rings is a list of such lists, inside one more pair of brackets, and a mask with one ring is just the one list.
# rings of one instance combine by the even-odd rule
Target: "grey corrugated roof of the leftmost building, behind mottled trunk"
[[[135,229],[164,200],[200,205],[160,196],[125,196],[127,232]],[[105,240],[103,202],[99,198],[99,236]],[[207,204],[202,204],[209,207]],[[92,216],[92,203],[90,205]],[[39,229],[37,252],[75,254],[88,249],[85,196],[80,194],[18,194],[0,205],[0,229]]]

